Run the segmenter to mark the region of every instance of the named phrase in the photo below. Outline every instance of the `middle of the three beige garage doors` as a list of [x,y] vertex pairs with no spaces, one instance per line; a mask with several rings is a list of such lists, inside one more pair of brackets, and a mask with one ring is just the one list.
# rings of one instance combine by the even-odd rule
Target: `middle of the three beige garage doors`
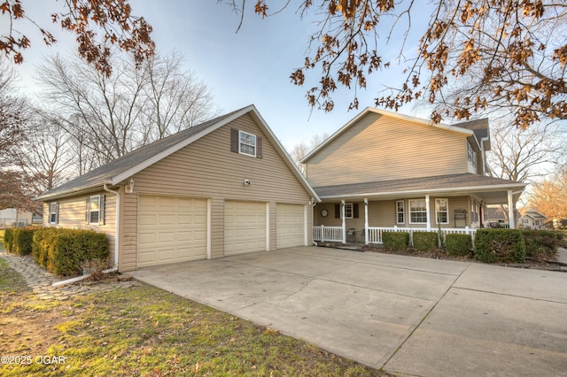
[[224,202],[224,255],[266,250],[266,204]]

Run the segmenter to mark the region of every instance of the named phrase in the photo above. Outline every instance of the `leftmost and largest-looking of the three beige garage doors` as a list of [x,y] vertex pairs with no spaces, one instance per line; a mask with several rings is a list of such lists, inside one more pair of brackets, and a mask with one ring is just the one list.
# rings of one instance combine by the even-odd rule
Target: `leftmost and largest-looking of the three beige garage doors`
[[138,267],[206,258],[206,199],[140,196]]

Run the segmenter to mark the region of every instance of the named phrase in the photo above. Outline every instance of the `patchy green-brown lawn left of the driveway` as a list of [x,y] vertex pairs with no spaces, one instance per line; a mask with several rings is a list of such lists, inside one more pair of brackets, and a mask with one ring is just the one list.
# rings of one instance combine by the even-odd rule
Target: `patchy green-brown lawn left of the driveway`
[[[0,353],[34,360],[3,365],[3,376],[387,375],[147,285],[48,303],[22,290],[1,258],[0,276],[0,296],[10,302],[0,316]],[[27,326],[12,328],[17,323]],[[36,363],[38,355],[64,363]]]

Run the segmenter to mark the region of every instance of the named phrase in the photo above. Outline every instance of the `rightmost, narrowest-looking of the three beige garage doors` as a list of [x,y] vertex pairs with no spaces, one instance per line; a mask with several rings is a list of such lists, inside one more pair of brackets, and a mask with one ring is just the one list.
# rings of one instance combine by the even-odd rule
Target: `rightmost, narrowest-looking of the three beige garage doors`
[[305,207],[301,204],[276,204],[276,248],[305,245]]

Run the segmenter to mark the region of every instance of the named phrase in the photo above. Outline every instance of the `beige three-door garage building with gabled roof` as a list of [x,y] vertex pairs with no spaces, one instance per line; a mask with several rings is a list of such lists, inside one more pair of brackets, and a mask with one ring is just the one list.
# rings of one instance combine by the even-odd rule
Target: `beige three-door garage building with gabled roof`
[[109,235],[120,271],[312,243],[315,191],[251,105],[54,188],[48,227]]

